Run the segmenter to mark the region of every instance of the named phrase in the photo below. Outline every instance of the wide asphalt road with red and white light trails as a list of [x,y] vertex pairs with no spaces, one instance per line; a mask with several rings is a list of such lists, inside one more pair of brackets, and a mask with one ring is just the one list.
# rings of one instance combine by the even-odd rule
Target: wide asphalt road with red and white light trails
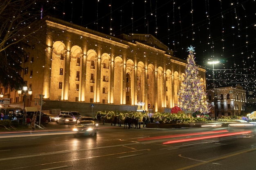
[[155,130],[101,124],[97,135],[85,137],[74,137],[72,126],[68,125],[52,122],[48,128],[51,130],[0,133],[0,169],[252,170],[256,167],[254,127]]

